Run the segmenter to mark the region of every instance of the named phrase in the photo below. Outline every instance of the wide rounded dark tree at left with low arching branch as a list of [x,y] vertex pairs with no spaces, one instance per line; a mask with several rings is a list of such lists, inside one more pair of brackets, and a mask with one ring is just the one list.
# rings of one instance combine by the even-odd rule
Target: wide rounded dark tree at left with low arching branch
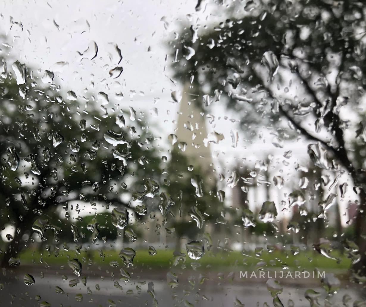
[[118,109],[109,115],[90,98],[72,91],[61,95],[52,72],[37,76],[16,61],[15,73],[8,73],[10,65],[2,61],[0,224],[15,228],[2,250],[1,265],[7,266],[29,245],[31,236],[23,235],[32,228],[41,237],[53,229],[58,242],[52,214],[57,208],[62,206],[68,219],[70,210],[79,214],[85,205],[128,206],[123,193],[161,174],[143,121],[125,126]]

